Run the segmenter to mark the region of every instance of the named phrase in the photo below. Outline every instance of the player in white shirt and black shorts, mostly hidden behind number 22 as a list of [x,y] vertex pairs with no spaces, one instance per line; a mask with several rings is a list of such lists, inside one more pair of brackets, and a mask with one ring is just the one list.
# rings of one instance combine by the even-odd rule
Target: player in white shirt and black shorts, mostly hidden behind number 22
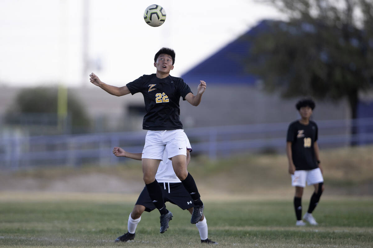
[[[187,137],[186,149],[186,164],[188,165],[190,162],[190,152],[192,151],[192,148]],[[126,152],[120,147],[114,147],[113,154],[117,157],[127,157],[135,160],[141,160],[141,153]],[[188,209],[188,211],[192,213],[194,206],[193,200],[173,171],[172,162],[167,159],[166,154],[163,155],[163,160],[159,164],[156,180],[161,186],[164,202],[173,203],[183,210]],[[141,220],[142,213],[144,211],[151,212],[155,208],[156,206],[154,206],[153,202],[151,202],[147,188],[144,187],[137,199],[134,209],[128,217],[128,232],[115,239],[115,242],[126,242],[134,239],[135,231],[138,223]],[[217,242],[211,241],[211,239],[207,238],[208,229],[205,216],[202,216],[201,220],[195,225],[200,233],[201,243],[217,244]]]

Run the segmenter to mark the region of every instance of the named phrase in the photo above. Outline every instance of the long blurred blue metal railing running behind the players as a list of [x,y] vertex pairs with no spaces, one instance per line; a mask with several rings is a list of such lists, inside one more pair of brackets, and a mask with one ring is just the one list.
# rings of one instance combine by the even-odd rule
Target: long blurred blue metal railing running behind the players
[[[186,129],[193,154],[211,159],[241,152],[285,152],[289,123],[219,126]],[[373,144],[373,118],[322,120],[320,148]],[[354,130],[354,134],[351,134]],[[119,162],[114,146],[141,152],[146,131],[84,135],[25,136],[20,130],[3,131],[0,138],[0,167],[18,170],[36,166],[110,165]],[[121,160],[123,161],[123,160]]]

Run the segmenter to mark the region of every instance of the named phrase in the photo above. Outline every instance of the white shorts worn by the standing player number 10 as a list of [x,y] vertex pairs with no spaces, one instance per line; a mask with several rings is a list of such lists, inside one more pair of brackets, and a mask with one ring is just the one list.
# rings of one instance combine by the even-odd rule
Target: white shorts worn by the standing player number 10
[[304,188],[306,181],[307,185],[322,183],[324,178],[320,168],[313,170],[299,170],[295,171],[294,175],[291,175],[291,186]]

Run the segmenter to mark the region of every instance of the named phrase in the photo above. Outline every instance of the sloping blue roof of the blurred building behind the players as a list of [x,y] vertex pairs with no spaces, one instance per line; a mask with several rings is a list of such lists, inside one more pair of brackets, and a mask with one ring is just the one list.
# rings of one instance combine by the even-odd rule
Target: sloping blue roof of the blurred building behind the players
[[248,84],[254,85],[258,77],[245,71],[244,63],[250,49],[250,43],[244,36],[255,35],[259,31],[267,29],[266,20],[248,30],[235,41],[229,43],[211,57],[186,72],[181,77],[187,84],[199,83],[204,80],[208,84]]

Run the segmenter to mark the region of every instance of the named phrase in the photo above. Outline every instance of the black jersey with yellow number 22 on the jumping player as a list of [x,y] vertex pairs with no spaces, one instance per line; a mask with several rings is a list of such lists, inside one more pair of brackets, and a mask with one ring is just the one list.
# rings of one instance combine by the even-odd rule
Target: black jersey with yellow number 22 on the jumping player
[[142,129],[175,130],[182,129],[180,122],[180,97],[185,100],[192,93],[189,86],[179,77],[157,78],[156,74],[143,75],[128,83],[131,94],[141,92],[144,96],[145,111]]

